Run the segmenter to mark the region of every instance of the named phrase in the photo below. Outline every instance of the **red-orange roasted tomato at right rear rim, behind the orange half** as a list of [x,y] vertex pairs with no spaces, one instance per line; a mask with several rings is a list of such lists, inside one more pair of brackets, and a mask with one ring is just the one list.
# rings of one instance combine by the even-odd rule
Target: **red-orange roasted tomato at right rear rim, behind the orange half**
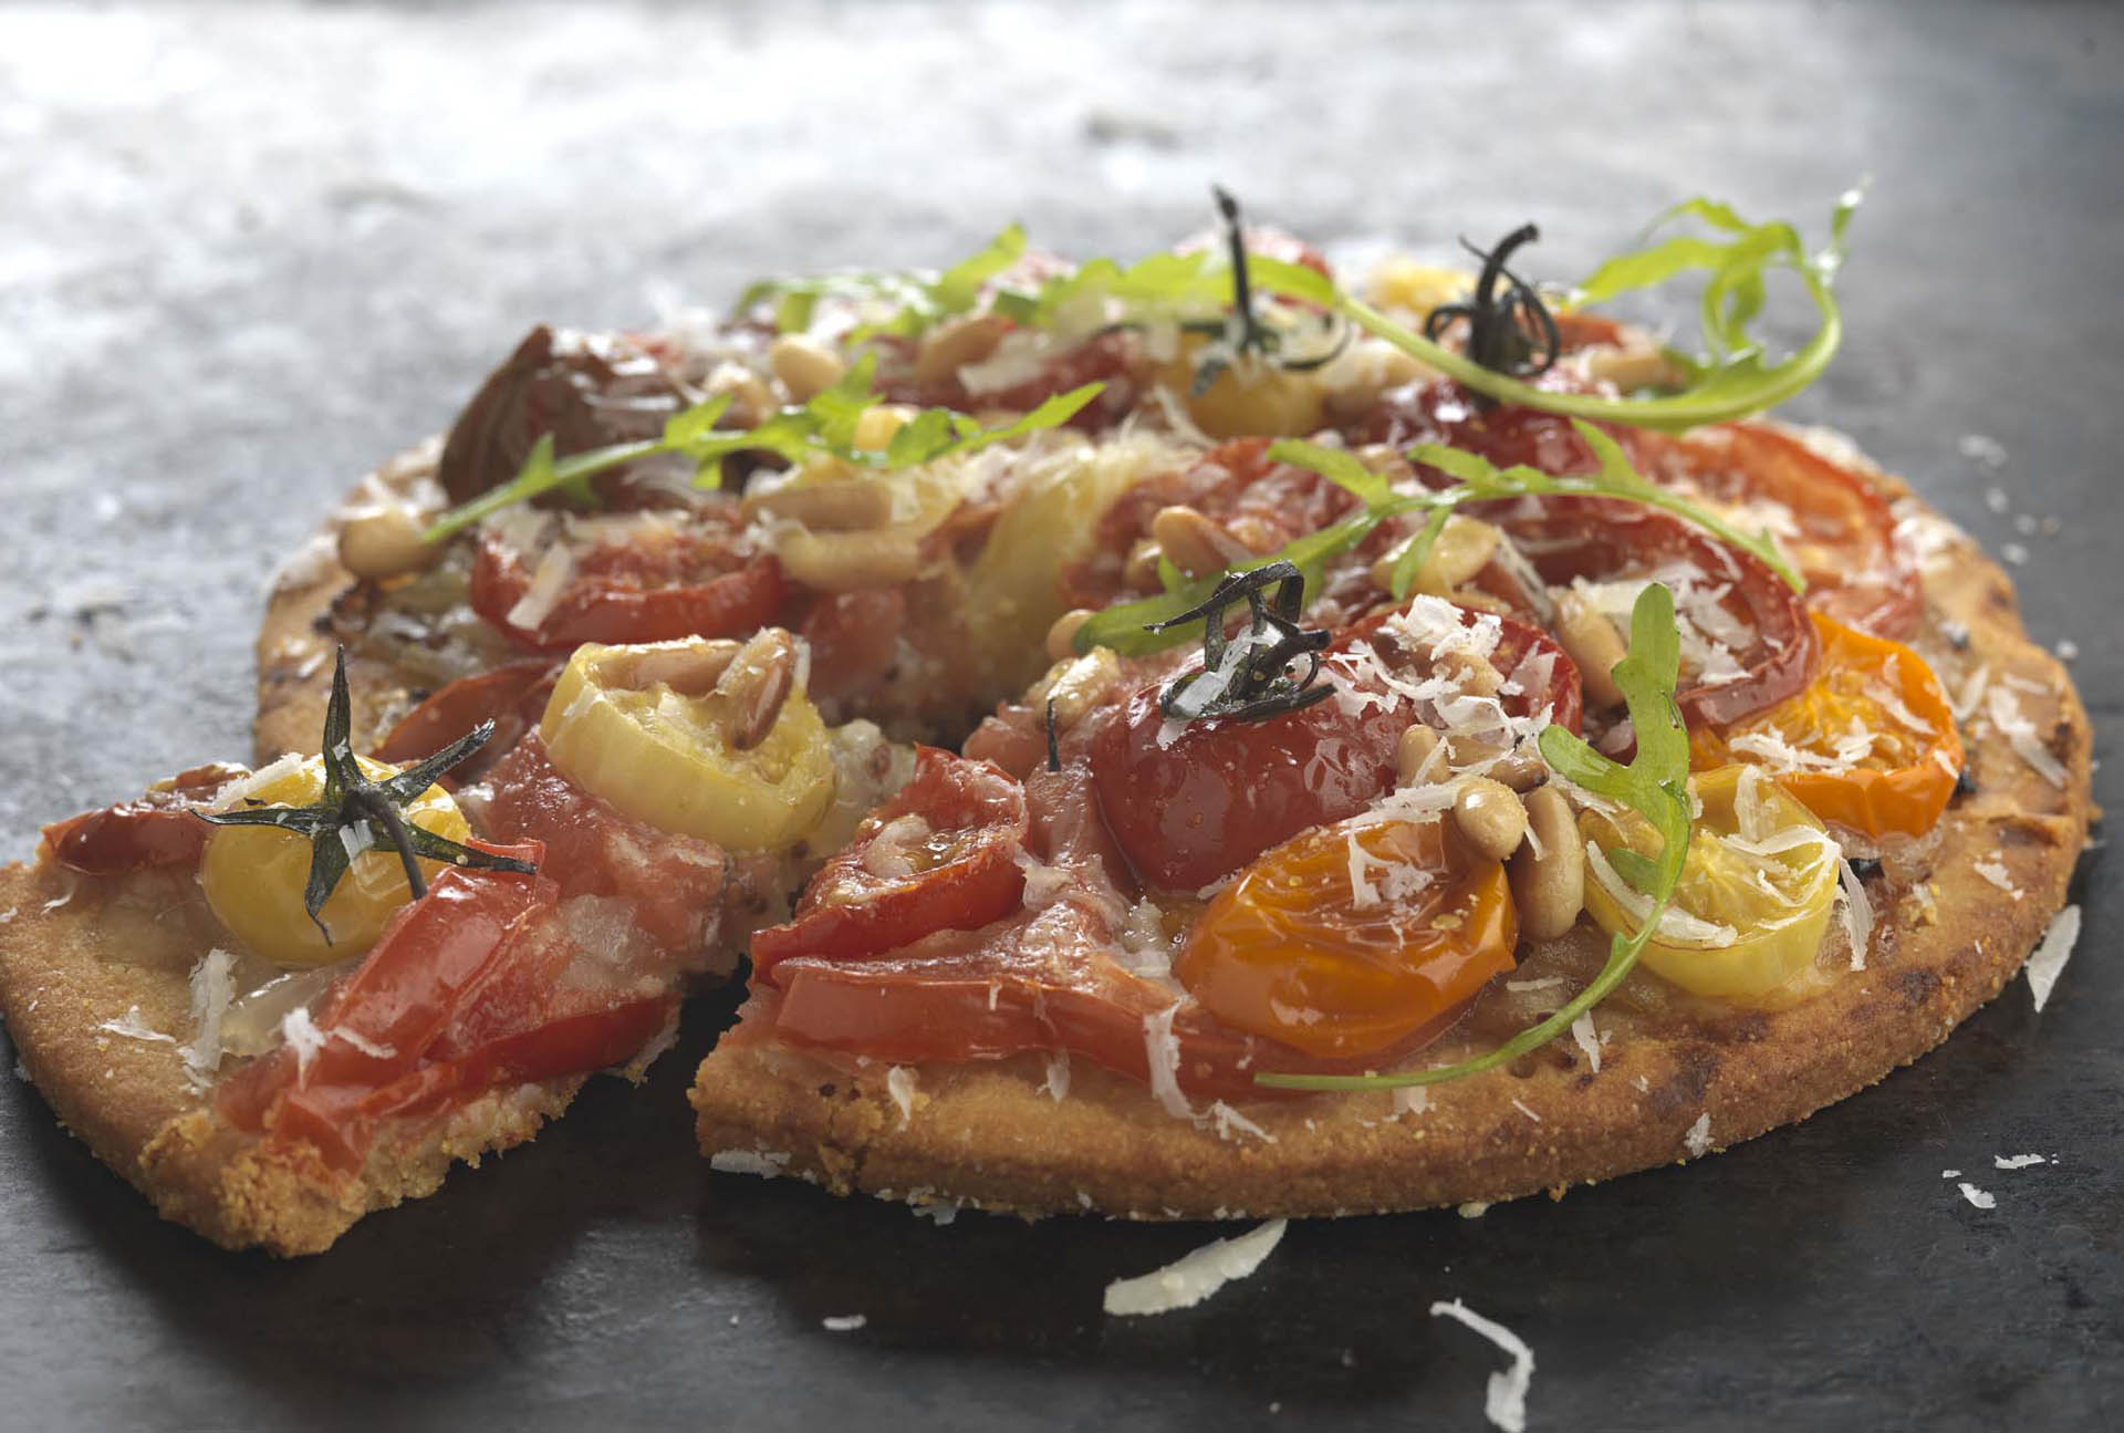
[[1808,604],[1875,636],[1909,636],[1924,610],[1918,563],[1888,500],[1799,438],[1757,423],[1648,440],[1646,474],[1680,481],[1769,527],[1808,578]]

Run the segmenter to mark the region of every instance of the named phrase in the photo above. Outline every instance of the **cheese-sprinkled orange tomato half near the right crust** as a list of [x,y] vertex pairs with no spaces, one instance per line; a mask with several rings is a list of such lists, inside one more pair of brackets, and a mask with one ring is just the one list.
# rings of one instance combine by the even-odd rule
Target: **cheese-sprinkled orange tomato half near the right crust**
[[1963,738],[1924,657],[1814,614],[1822,670],[1797,697],[1729,727],[1691,731],[1703,770],[1761,765],[1822,821],[1867,836],[1924,836],[1954,797]]

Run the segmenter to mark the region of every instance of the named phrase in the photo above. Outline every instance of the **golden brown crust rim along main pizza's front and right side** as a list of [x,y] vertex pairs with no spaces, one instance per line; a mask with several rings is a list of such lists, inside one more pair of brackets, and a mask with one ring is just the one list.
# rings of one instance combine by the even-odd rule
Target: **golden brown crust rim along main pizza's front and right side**
[[[1867,967],[1835,974],[1822,995],[1627,1029],[1597,1074],[1557,1040],[1514,1069],[1429,1089],[1415,1112],[1398,1114],[1385,1093],[1249,1103],[1262,1135],[1172,1118],[1083,1061],[1062,1101],[1032,1061],[924,1065],[903,1118],[884,1069],[850,1076],[724,1040],[692,1089],[703,1152],[737,1150],[724,1163],[752,1169],[767,1159],[839,1193],[1028,1214],[1344,1214],[1561,1191],[1731,1146],[1873,1084],[2014,976],[2065,901],[2092,816],[2088,719],[2065,670],[2028,642],[2005,574],[1939,519],[1920,521],[1943,538],[1926,563],[1926,657],[1950,687],[1975,665],[2009,682],[2067,780],[2050,785],[1988,721],[1973,723],[1975,793],[1943,819],[1931,887],[1878,910]],[[1967,627],[1965,653],[1939,638],[1948,623]],[[2020,899],[1971,872],[1988,859]]]

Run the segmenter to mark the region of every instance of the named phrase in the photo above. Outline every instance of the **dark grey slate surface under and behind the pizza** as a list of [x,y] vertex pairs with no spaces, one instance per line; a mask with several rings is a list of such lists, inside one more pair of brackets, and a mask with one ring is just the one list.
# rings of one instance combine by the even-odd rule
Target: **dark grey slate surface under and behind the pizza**
[[[2048,6],[0,9],[0,838],[240,755],[274,557],[529,321],[1009,217],[1138,251],[1211,179],[1321,236],[1536,217],[1572,274],[1678,196],[1818,225],[1871,172],[1850,344],[1797,412],[2020,542],[2031,627],[2113,723],[2120,55],[2116,11]],[[1463,1297],[1531,1342],[1536,1429],[2116,1427],[2099,857],[2082,899],[2043,1016],[2016,984],[1801,1129],[1559,1206],[1294,1227],[1134,1322],[1100,1286],[1211,1229],[709,1176],[680,1093],[726,1006],[646,1093],[291,1265],[159,1225],[8,1082],[0,1422],[1483,1427],[1502,1359],[1425,1316]]]

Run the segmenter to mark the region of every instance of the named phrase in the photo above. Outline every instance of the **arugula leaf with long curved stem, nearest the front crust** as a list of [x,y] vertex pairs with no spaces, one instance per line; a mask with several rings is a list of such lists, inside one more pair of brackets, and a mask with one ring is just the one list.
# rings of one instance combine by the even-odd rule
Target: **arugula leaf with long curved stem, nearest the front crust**
[[[1563,727],[1544,727],[1540,736],[1542,757],[1572,785],[1610,802],[1621,802],[1652,823],[1659,831],[1661,850],[1657,861],[1638,857],[1629,870],[1616,861],[1640,891],[1652,897],[1652,908],[1644,923],[1629,935],[1616,931],[1608,942],[1608,963],[1593,976],[1570,1004],[1548,1018],[1519,1031],[1495,1050],[1434,1069],[1404,1069],[1385,1076],[1306,1076],[1306,1074],[1260,1074],[1255,1084],[1300,1091],[1378,1091],[1408,1084],[1442,1084],[1463,1076],[1495,1069],[1529,1050],[1538,1050],[1572,1027],[1580,1014],[1608,997],[1623,984],[1635,967],[1644,946],[1659,929],[1661,916],[1674,901],[1674,889],[1682,880],[1689,861],[1689,731],[1682,725],[1682,710],[1674,704],[1674,685],[1680,676],[1680,636],[1674,627],[1674,593],[1659,583],[1638,593],[1638,606],[1629,614],[1629,657],[1616,663],[1614,685],[1629,702],[1629,721],[1638,736],[1638,755],[1623,765],[1593,751],[1585,740]],[[1623,857],[1616,850],[1614,857]],[[1627,853],[1635,855],[1635,853]]]

